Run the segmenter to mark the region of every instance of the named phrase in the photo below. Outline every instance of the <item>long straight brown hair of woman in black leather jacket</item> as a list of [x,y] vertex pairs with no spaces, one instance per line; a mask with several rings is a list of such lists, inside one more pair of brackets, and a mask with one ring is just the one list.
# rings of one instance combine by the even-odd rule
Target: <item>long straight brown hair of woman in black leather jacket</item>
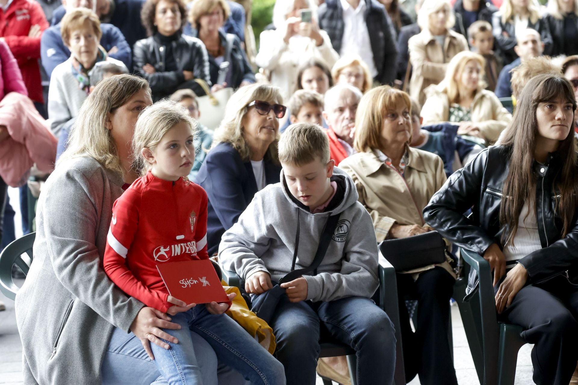
[[[502,204],[500,207],[500,223],[506,225],[503,234],[503,244],[512,242],[518,230],[518,218],[525,202],[533,207],[534,199],[530,193],[535,185],[532,164],[534,162],[533,149],[536,147],[538,136],[538,121],[536,110],[538,104],[554,102],[563,99],[572,103],[576,110],[574,90],[568,80],[560,74],[541,74],[533,77],[525,85],[518,99],[516,113],[512,124],[506,129],[501,143],[510,147],[510,170],[502,189]],[[572,118],[573,119],[573,118]],[[574,130],[570,129],[566,139],[560,141],[557,150],[560,167],[555,172],[553,186],[560,191],[560,198],[556,198],[556,208],[564,226],[562,237],[568,234],[573,216],[576,212],[578,192],[578,169],[576,150],[574,148]]]

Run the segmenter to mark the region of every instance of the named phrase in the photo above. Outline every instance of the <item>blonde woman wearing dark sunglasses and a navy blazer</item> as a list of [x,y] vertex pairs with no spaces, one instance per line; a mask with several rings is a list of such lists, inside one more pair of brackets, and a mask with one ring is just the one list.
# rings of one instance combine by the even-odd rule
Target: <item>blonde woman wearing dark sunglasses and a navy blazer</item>
[[279,119],[285,116],[279,88],[253,84],[231,96],[213,147],[197,174],[209,197],[209,255],[218,251],[221,236],[266,185],[279,182],[277,157]]

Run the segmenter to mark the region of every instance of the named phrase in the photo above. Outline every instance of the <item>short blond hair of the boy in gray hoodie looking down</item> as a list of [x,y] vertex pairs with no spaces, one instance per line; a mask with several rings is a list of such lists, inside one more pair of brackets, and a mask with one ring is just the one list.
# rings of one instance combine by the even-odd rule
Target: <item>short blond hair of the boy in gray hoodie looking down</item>
[[288,126],[279,140],[279,162],[297,167],[318,158],[324,165],[329,162],[329,139],[320,126],[296,123]]

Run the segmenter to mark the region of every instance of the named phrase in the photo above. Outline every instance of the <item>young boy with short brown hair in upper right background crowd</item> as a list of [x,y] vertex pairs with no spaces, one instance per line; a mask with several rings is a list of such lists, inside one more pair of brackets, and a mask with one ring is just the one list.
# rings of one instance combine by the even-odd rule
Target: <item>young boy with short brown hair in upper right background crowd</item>
[[494,55],[494,51],[492,51],[494,47],[492,26],[485,20],[475,21],[468,28],[468,36],[472,51],[486,59],[486,83],[488,84],[486,89],[494,92],[503,65],[501,59]]

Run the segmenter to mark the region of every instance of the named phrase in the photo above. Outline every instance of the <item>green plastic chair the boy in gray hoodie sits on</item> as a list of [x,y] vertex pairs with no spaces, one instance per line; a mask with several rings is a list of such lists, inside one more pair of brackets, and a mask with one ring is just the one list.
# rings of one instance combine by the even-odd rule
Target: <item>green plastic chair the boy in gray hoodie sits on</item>
[[[380,258],[379,261],[379,306],[390,317],[391,322],[395,327],[395,338],[397,339],[396,354],[397,357],[403,357],[401,350],[401,333],[399,332],[399,313],[397,305],[397,286],[395,283],[395,270],[385,259]],[[234,271],[223,270],[223,278],[230,286],[238,287],[241,293],[244,293],[244,281],[240,279],[239,275]],[[377,293],[376,293],[377,297]],[[377,299],[377,298],[375,298]],[[377,302],[377,301],[376,301]],[[357,357],[355,350],[350,346],[344,345],[337,341],[321,341],[321,352],[319,357],[347,357],[347,366],[351,376],[351,384],[357,385]],[[401,369],[401,371],[400,371]],[[395,363],[395,385],[405,385],[405,373],[403,372],[403,358],[401,365],[399,360]],[[331,385],[331,380],[324,379],[324,385]]]

